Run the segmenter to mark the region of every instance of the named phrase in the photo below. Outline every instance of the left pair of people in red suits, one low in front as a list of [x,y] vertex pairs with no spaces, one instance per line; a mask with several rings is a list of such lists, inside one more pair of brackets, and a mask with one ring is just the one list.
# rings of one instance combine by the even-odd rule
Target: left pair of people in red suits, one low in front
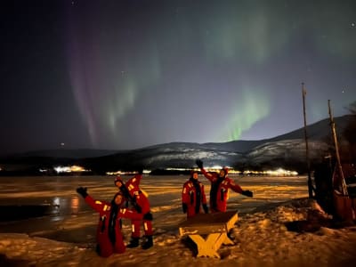
[[[142,248],[148,249],[153,246],[152,220],[150,202],[142,190],[140,182],[142,171],[124,182],[120,176],[115,178],[117,193],[111,202],[95,200],[83,187],[77,188],[85,202],[99,213],[99,223],[96,230],[96,252],[102,257],[109,257],[113,253],[121,254],[126,247],[139,247],[141,238],[141,224],[143,224],[144,236]],[[129,207],[131,204],[131,207]],[[132,235],[130,243],[125,246],[121,219],[130,219]]]

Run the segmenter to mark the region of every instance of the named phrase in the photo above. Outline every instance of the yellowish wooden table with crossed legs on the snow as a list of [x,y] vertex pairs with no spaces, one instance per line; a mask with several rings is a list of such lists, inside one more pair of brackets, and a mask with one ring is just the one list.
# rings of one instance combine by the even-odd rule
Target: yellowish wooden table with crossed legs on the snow
[[234,245],[228,237],[229,231],[238,221],[236,211],[214,214],[197,214],[193,218],[180,223],[181,237],[190,237],[198,247],[198,257],[217,257],[218,249],[224,245]]

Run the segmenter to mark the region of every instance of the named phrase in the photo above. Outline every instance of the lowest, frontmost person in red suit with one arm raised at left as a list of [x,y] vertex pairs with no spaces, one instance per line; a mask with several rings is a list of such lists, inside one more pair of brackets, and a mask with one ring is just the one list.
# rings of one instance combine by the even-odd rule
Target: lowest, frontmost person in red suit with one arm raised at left
[[102,257],[109,257],[113,253],[121,254],[125,252],[125,244],[121,233],[121,218],[132,220],[142,219],[142,214],[138,214],[127,208],[122,208],[124,198],[118,192],[111,202],[95,200],[86,192],[86,188],[77,188],[85,202],[99,213],[99,224],[96,230],[96,252]]

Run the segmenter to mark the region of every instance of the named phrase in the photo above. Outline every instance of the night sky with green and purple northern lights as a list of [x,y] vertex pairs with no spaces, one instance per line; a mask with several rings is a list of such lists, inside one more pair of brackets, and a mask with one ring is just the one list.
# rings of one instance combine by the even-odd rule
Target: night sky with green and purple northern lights
[[261,140],[347,114],[356,1],[1,1],[0,153]]

